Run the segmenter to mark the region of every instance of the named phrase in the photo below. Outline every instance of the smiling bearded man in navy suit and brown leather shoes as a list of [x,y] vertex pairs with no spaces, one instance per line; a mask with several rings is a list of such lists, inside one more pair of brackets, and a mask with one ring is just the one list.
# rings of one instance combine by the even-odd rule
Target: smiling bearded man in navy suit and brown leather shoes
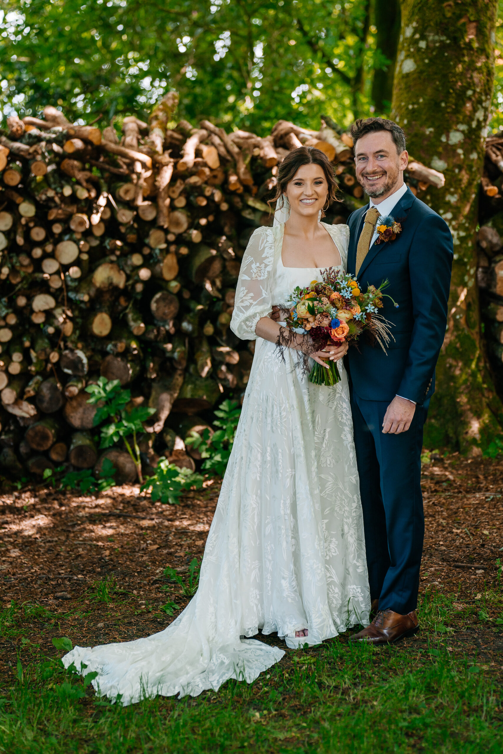
[[[379,314],[393,323],[387,354],[360,340],[348,352],[351,409],[370,598],[376,616],[352,641],[385,644],[413,633],[425,532],[423,425],[446,332],[452,236],[446,222],[403,182],[405,134],[384,118],[351,127],[356,176],[370,203],[352,213],[348,272],[364,291],[389,281]],[[379,240],[391,216],[393,241]]]

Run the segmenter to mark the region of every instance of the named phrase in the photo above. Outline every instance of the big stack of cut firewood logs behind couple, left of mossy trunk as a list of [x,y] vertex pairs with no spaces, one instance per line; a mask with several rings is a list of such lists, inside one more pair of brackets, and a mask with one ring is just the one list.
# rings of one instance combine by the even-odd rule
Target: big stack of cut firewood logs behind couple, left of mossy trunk
[[[250,375],[253,342],[229,323],[247,241],[272,223],[278,163],[301,144],[329,156],[342,201],[326,222],[363,202],[351,138],[330,118],[319,131],[279,121],[256,136],[176,122],[176,106],[168,93],[148,123],[124,118],[120,135],[48,106],[41,119],[8,118],[0,135],[4,476],[99,467],[84,388],[100,375],[156,409],[147,473],[161,454],[193,467],[183,440]],[[443,176],[411,161],[408,180],[421,195]],[[114,453],[121,478],[133,477]]]

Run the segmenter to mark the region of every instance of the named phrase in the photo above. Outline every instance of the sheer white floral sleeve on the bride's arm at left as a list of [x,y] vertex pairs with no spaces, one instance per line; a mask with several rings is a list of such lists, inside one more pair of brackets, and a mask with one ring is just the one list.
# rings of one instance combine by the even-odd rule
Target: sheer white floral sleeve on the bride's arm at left
[[231,329],[242,340],[255,340],[256,323],[271,312],[271,276],[275,241],[271,228],[257,228],[244,252]]

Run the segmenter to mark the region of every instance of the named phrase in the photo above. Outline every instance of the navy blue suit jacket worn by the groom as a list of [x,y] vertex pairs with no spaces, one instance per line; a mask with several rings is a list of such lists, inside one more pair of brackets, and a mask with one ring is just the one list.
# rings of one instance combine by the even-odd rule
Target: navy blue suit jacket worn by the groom
[[[352,213],[348,272],[354,275],[358,238],[369,205]],[[354,391],[363,400],[395,395],[422,404],[434,392],[434,372],[447,322],[452,235],[446,222],[408,189],[392,213],[402,225],[394,241],[373,244],[358,271],[361,290],[389,281],[379,310],[393,324],[387,354],[365,336],[348,352]]]

